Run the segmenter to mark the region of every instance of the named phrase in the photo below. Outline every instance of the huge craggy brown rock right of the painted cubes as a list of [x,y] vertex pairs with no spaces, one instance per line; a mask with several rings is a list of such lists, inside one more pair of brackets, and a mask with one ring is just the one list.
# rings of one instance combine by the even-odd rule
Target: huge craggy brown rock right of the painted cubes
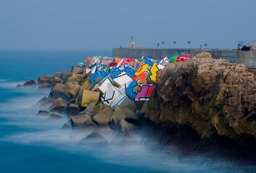
[[256,138],[256,81],[244,64],[200,53],[158,72],[145,117],[187,125],[202,138]]

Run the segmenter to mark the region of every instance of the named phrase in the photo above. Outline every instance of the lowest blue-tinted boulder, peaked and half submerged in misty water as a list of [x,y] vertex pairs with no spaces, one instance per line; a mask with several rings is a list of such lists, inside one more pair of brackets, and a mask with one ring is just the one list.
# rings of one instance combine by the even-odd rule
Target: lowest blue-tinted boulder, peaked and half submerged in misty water
[[93,132],[90,133],[90,135],[88,135],[87,137],[80,140],[80,144],[106,146],[108,145],[108,140],[106,140],[106,138],[103,137],[100,133]]

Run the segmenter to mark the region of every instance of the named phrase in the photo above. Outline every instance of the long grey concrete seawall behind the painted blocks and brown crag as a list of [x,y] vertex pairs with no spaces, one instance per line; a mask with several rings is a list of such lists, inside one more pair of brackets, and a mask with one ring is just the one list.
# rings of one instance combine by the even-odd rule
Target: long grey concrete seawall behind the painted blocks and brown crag
[[[256,52],[254,51],[236,51],[231,49],[216,49],[216,50],[205,50],[211,53],[215,58],[227,59],[229,62],[242,63],[247,67],[256,72]],[[191,56],[202,51],[198,49],[161,49],[161,48],[113,48],[113,57],[134,57],[140,59],[142,56],[148,56],[152,59],[163,59],[164,57],[171,57],[177,53],[187,53]]]

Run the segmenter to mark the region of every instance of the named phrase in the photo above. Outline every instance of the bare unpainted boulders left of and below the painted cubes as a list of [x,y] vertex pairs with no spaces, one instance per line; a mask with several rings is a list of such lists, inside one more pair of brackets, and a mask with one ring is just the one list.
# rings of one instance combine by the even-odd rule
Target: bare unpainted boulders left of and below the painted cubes
[[[62,129],[92,131],[90,135],[81,139],[81,145],[91,145],[95,142],[99,145],[139,144],[130,135],[140,128],[139,117],[135,114],[136,104],[132,101],[127,102],[128,98],[126,104],[115,108],[103,103],[101,99],[104,93],[98,88],[100,78],[92,84],[92,74],[83,75],[84,70],[72,67],[70,72],[59,72],[51,77],[40,76],[39,87],[50,87],[51,91],[48,97],[38,101],[38,106],[46,108],[40,110],[38,116],[48,116],[51,120],[69,119]],[[54,81],[54,78],[58,78],[58,81]],[[112,133],[113,130],[119,133]],[[113,140],[107,140],[104,137],[106,134],[118,135]]]

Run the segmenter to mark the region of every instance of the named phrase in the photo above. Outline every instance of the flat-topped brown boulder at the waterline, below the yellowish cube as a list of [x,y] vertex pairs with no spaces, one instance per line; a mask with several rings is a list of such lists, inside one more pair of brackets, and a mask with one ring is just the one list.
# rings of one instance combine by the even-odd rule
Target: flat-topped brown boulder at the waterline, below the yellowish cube
[[87,127],[97,127],[88,115],[72,116],[71,117],[72,127],[74,129],[85,129]]

